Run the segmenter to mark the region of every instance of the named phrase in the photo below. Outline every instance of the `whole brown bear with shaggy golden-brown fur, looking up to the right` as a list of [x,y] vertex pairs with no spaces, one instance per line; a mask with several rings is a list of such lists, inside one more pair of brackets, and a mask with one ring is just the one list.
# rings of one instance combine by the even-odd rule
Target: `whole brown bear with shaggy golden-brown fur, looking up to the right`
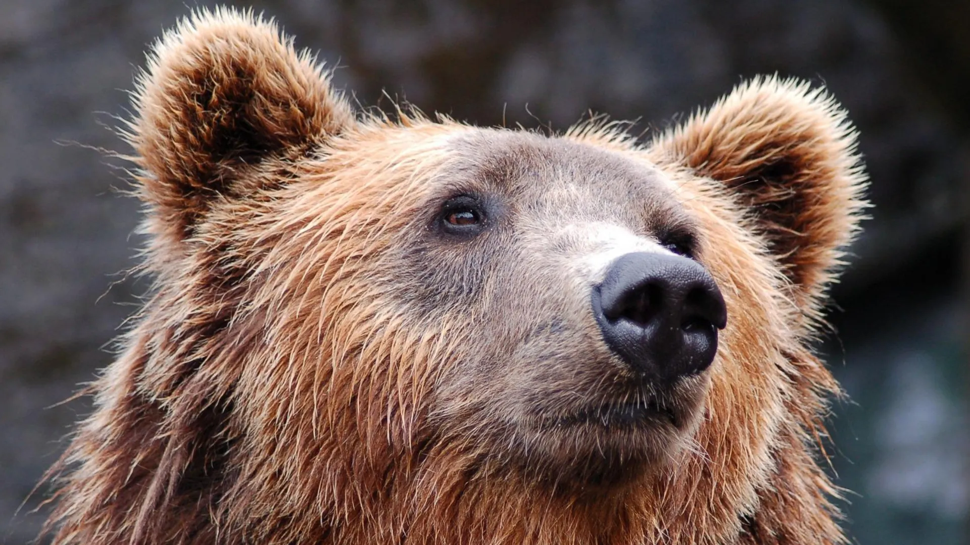
[[355,112],[219,10],[134,107],[154,284],[54,543],[844,542],[811,344],[865,175],[824,90],[650,142]]

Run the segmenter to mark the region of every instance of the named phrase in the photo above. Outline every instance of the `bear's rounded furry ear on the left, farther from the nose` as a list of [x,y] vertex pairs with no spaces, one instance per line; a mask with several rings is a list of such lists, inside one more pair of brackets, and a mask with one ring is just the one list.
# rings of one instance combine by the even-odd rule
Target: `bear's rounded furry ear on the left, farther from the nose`
[[355,122],[307,52],[273,21],[231,9],[196,12],[148,54],[122,131],[142,198],[182,236],[218,196],[270,157],[297,157]]

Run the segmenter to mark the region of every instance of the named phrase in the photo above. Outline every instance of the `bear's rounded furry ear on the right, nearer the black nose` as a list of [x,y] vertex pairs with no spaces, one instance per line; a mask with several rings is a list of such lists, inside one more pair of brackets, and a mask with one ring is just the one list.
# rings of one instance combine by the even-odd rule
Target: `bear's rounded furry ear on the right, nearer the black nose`
[[727,186],[792,281],[795,304],[817,309],[867,206],[856,130],[824,89],[748,81],[651,152]]

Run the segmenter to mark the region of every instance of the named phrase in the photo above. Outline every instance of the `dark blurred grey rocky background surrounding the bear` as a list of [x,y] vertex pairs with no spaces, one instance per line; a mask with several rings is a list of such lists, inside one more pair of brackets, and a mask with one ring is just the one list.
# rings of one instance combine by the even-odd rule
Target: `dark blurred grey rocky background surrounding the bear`
[[[235,3],[235,2],[234,2]],[[89,401],[68,399],[144,282],[138,205],[92,147],[148,44],[196,4],[0,1],[0,543],[37,534],[30,495]],[[199,5],[209,5],[199,4]],[[861,131],[872,219],[821,349],[832,470],[861,544],[970,543],[967,294],[970,2],[253,0],[364,105],[563,130],[588,111],[663,129],[744,78],[827,85]]]

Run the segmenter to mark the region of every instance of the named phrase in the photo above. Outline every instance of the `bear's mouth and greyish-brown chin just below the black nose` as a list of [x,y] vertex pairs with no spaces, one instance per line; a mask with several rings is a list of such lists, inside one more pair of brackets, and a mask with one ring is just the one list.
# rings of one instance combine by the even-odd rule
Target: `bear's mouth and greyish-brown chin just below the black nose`
[[668,385],[630,379],[598,393],[598,401],[555,412],[533,403],[533,418],[513,443],[520,465],[570,494],[622,490],[692,449],[709,385],[704,371]]

